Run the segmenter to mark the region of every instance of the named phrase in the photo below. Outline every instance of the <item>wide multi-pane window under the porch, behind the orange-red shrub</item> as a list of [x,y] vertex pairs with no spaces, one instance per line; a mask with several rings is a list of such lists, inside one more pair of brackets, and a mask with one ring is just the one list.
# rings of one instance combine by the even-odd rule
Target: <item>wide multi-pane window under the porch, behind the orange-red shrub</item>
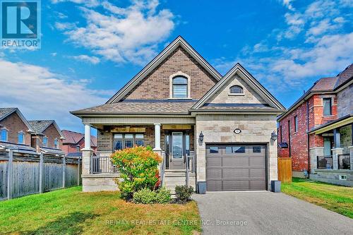
[[114,150],[122,150],[124,148],[136,146],[144,146],[143,134],[131,133],[115,133],[114,134]]

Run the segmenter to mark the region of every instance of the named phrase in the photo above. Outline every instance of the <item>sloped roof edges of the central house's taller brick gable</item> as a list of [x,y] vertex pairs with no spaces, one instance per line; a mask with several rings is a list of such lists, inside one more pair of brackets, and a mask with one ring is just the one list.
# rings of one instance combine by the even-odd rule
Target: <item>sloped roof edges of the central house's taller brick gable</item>
[[177,47],[184,48],[186,52],[188,52],[193,59],[196,59],[196,61],[198,61],[198,63],[201,64],[201,66],[203,66],[203,68],[205,68],[205,70],[208,71],[208,73],[210,73],[216,80],[220,80],[222,78],[220,73],[218,73],[213,66],[208,64],[208,62],[205,61],[205,59],[203,59],[203,57],[198,54],[198,52],[196,52],[196,50],[193,49],[193,47],[191,47],[191,45],[186,42],[183,37],[178,36],[172,43],[164,48],[162,52],[155,57],[155,59],[152,59],[152,61],[150,61],[145,68],[143,68],[128,83],[126,83],[123,88],[116,92],[116,94],[110,98],[106,104],[112,104],[113,102],[121,100],[124,95],[131,91],[140,82],[140,80],[143,80],[143,78],[145,78],[145,76],[147,76],[153,68],[157,67],[165,58],[167,58],[167,56],[169,56],[169,54],[177,49]]

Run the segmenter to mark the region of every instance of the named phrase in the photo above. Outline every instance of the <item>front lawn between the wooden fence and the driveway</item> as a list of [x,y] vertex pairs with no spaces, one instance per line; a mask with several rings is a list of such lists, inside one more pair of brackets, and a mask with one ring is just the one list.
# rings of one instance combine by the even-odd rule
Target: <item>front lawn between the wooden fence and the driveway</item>
[[136,205],[81,187],[0,202],[0,234],[199,234],[198,207]]

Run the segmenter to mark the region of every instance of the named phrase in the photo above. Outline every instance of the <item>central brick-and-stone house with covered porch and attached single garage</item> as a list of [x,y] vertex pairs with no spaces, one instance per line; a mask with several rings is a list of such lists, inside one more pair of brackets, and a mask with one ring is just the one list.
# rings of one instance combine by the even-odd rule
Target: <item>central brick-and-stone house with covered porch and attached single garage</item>
[[[277,180],[276,119],[284,111],[240,64],[222,77],[177,37],[106,104],[71,112],[85,124],[88,143],[83,191],[116,189],[118,175],[105,162],[133,145],[162,155],[169,188],[186,183],[187,162],[189,185],[200,192],[268,190]],[[94,158],[90,126],[97,128]]]

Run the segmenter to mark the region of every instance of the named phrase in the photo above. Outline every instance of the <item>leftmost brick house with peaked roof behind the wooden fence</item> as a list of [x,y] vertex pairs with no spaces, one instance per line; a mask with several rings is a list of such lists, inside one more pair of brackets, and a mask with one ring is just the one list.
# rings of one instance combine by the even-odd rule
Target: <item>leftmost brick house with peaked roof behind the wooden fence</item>
[[0,108],[0,141],[30,146],[32,126],[18,108]]

